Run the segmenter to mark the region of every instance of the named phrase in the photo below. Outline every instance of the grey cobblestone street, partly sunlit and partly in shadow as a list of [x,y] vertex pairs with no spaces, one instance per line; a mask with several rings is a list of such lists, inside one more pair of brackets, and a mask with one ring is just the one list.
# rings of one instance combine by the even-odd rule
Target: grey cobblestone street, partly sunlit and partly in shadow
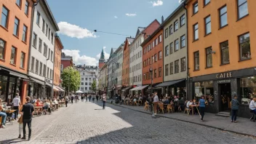
[[74,103],[33,119],[31,141],[17,139],[18,124],[0,129],[1,143],[256,143],[252,137],[222,132],[101,103]]

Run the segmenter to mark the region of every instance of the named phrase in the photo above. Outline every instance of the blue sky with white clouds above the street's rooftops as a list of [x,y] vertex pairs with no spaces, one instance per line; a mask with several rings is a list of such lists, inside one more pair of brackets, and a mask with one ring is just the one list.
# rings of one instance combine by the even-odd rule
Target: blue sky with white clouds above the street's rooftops
[[47,0],[57,21],[66,55],[76,65],[97,65],[101,50],[108,58],[127,36],[93,33],[93,30],[134,37],[137,27],[153,20],[161,23],[179,5],[179,0]]

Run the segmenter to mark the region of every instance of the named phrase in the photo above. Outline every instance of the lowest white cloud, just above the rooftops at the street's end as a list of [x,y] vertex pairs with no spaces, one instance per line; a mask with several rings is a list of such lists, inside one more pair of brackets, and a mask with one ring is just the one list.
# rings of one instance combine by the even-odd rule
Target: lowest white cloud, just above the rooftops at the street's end
[[76,65],[97,65],[98,61],[95,57],[88,57],[86,55],[80,55],[80,51],[78,49],[63,49],[65,55],[69,55],[73,57],[73,63]]

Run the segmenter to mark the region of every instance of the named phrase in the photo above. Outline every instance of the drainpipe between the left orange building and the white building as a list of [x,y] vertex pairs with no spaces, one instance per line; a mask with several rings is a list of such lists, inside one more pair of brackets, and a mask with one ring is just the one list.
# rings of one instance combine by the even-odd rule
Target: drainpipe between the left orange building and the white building
[[[32,47],[32,33],[33,33],[33,17],[34,17],[34,11],[35,11],[35,7],[37,4],[39,4],[40,0],[37,0],[36,3],[33,4],[32,6],[32,10],[31,10],[31,33],[29,36],[29,52],[28,52],[28,66],[27,66],[27,71],[28,71],[28,75],[29,75],[29,69],[30,69],[30,61],[31,61],[31,47]],[[29,77],[29,76],[28,76]],[[33,96],[33,95],[32,95]]]

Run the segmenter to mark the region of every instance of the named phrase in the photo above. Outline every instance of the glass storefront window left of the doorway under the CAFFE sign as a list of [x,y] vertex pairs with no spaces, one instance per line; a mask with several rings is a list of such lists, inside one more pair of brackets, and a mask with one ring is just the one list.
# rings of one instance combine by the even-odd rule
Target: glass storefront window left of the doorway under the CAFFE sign
[[199,100],[201,95],[206,97],[209,103],[214,103],[213,81],[195,82],[195,94],[193,98]]

